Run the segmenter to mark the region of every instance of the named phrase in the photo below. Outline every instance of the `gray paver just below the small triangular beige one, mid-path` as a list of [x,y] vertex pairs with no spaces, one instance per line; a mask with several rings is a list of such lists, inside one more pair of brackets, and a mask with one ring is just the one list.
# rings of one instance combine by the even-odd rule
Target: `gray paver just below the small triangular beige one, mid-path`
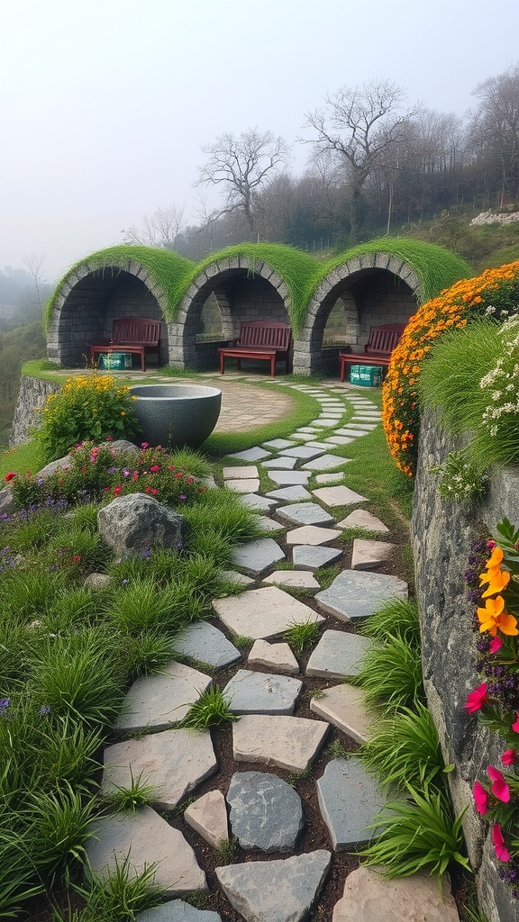
[[294,714],[301,685],[291,676],[238,669],[223,693],[234,714]]

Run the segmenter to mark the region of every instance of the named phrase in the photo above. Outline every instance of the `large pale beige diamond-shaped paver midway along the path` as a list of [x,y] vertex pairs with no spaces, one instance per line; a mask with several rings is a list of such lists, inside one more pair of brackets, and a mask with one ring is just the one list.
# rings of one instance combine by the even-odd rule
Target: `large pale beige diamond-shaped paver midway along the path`
[[239,596],[216,598],[212,608],[226,628],[242,637],[268,640],[284,633],[294,622],[324,621],[321,615],[277,585],[251,589]]

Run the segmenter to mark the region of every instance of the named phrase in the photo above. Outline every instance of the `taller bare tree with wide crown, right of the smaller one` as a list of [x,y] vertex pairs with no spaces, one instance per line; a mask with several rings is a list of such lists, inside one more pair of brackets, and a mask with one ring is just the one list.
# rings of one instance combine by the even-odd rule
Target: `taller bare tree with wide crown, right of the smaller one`
[[351,236],[360,235],[361,195],[370,176],[392,148],[404,139],[406,126],[419,111],[404,106],[402,89],[388,80],[362,87],[343,87],[326,99],[323,109],[310,112],[308,125],[317,132],[321,150],[332,151],[342,162],[351,195]]

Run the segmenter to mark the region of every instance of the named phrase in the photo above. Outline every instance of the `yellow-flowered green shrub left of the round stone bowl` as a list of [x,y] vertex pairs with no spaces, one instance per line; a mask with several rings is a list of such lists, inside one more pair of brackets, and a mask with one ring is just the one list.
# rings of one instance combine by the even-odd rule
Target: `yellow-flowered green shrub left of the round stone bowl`
[[107,436],[132,438],[140,431],[129,387],[119,386],[109,374],[68,378],[42,408],[38,438],[47,460],[62,457],[71,445]]

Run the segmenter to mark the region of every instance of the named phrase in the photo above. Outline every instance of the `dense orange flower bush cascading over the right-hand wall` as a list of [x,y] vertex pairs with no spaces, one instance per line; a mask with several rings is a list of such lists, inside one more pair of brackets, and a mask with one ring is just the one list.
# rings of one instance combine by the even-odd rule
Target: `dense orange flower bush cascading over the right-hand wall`
[[465,326],[469,316],[489,314],[502,321],[518,312],[519,260],[455,282],[409,320],[382,387],[386,438],[397,467],[409,477],[415,473],[419,427],[416,382],[431,344],[445,330]]

